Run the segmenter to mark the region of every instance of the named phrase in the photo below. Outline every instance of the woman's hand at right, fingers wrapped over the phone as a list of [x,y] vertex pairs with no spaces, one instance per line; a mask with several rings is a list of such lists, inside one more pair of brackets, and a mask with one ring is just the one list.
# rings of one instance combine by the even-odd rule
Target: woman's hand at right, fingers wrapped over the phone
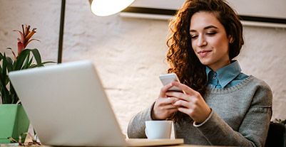
[[183,85],[179,82],[172,82],[171,85],[183,89],[185,93],[181,92],[166,92],[167,97],[179,99],[173,105],[178,107],[178,111],[188,114],[195,123],[203,123],[205,119],[210,115],[210,107],[205,103],[205,100],[199,92],[191,89],[187,85]]

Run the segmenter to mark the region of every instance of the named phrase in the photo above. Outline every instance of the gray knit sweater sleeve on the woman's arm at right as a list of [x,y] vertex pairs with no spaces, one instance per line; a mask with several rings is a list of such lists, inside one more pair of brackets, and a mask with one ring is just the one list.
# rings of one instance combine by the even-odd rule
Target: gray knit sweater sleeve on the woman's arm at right
[[196,126],[212,145],[264,146],[272,116],[272,92],[266,83],[257,85],[240,128],[234,131],[214,111],[208,121]]

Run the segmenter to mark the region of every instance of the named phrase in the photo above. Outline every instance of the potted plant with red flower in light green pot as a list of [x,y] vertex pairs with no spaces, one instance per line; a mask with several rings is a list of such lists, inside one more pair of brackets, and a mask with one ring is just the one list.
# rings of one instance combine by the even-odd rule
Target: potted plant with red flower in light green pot
[[[15,92],[13,85],[8,77],[8,73],[14,70],[24,70],[33,67],[41,67],[48,62],[41,61],[41,55],[36,48],[28,49],[26,46],[36,39],[31,37],[36,33],[36,28],[22,25],[22,31],[18,38],[18,53],[15,54],[11,48],[12,58],[6,56],[6,53],[0,53],[0,143],[10,143],[9,137],[19,141],[20,138],[26,138],[26,132],[29,129],[29,119],[21,106],[19,97]],[[36,61],[36,62],[35,62]],[[22,139],[23,142],[25,139]]]

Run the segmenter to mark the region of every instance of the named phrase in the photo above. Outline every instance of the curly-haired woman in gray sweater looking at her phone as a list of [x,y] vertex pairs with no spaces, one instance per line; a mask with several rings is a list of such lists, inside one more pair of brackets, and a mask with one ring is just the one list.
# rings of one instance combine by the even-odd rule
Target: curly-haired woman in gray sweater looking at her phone
[[[168,72],[180,82],[160,90],[131,119],[129,138],[146,138],[147,120],[172,119],[176,138],[216,146],[264,146],[272,116],[270,87],[240,70],[242,24],[223,0],[187,0],[170,22]],[[170,87],[181,92],[170,92]]]

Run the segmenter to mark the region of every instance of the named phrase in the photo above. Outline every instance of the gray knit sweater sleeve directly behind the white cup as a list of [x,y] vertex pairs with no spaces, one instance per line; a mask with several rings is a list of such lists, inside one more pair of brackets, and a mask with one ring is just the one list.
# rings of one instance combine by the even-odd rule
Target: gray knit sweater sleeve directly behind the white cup
[[151,113],[154,104],[148,107],[148,109],[139,112],[136,116],[133,116],[131,121],[129,121],[127,129],[128,138],[147,138],[145,135],[145,121],[152,120]]

